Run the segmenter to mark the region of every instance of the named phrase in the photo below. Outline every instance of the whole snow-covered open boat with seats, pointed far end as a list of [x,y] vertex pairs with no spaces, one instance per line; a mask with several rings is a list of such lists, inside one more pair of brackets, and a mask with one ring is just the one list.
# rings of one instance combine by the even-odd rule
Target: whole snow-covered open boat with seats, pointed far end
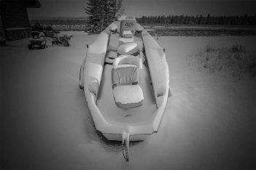
[[123,17],[88,46],[79,87],[95,128],[106,139],[129,141],[158,132],[169,92],[165,49],[133,17]]

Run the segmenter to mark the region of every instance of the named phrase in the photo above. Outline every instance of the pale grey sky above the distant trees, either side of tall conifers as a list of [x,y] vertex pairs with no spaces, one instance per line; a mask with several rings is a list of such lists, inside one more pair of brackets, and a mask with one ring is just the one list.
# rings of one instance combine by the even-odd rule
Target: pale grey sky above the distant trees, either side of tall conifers
[[[28,17],[86,17],[87,0],[39,0],[41,8]],[[256,0],[123,0],[125,14],[151,15],[256,15]]]

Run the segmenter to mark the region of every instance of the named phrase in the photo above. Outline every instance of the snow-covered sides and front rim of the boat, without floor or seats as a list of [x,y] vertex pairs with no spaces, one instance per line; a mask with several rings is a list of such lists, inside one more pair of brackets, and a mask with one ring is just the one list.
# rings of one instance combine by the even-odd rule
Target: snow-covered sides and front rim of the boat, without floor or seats
[[[115,23],[118,25],[118,23]],[[140,26],[141,27],[141,26]],[[155,110],[149,114],[147,120],[134,123],[133,121],[109,118],[104,114],[106,110],[100,110],[98,107],[98,94],[101,84],[101,78],[104,72],[104,60],[111,36],[110,28],[99,34],[98,39],[88,48],[85,60],[80,69],[79,87],[83,87],[85,100],[90,110],[95,128],[109,140],[123,141],[124,134],[128,134],[131,141],[140,141],[147,138],[150,134],[158,131],[164,116],[168,100],[168,65],[163,49],[157,44],[155,39],[142,31],[144,41],[144,50],[147,57],[147,64],[153,86],[153,96],[155,97]],[[159,72],[160,69],[160,72]],[[113,107],[115,107],[113,105]],[[127,118],[126,118],[127,120]]]

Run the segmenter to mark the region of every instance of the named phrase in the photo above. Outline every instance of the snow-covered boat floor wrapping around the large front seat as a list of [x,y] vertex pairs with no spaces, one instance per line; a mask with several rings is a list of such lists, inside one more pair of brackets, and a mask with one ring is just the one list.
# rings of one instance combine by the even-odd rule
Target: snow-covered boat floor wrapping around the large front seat
[[137,108],[122,109],[115,105],[112,94],[112,65],[105,65],[101,79],[101,89],[98,96],[98,108],[109,122],[121,121],[128,124],[141,124],[157,110],[155,105],[152,85],[150,85],[150,74],[145,65],[139,70],[139,86],[141,86],[144,101],[143,105]]

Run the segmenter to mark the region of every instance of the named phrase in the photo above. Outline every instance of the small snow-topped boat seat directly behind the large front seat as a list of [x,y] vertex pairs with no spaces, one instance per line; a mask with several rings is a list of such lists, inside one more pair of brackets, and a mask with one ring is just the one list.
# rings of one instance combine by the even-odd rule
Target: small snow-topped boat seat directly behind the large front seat
[[123,55],[123,54],[134,55],[134,56],[138,55],[139,54],[138,44],[134,42],[122,44],[118,46],[117,53],[118,55]]

